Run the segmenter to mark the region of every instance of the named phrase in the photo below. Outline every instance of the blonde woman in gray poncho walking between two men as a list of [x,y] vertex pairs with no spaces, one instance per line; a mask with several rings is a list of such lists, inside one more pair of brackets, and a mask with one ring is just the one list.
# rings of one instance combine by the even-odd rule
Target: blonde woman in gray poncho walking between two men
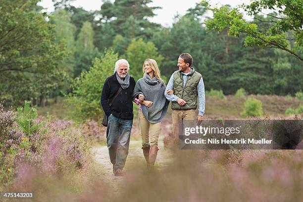
[[142,149],[148,167],[152,167],[158,152],[161,120],[166,115],[169,101],[164,96],[165,84],[154,59],[144,61],[143,73],[143,78],[136,83],[133,98],[141,103],[138,116]]

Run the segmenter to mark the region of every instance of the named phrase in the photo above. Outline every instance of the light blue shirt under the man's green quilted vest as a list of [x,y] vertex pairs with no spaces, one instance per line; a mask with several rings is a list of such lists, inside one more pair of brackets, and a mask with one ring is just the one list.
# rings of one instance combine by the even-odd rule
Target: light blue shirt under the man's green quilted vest
[[[188,79],[188,75],[190,73],[192,73],[192,70],[191,72],[189,73],[182,73],[182,76],[183,76],[183,88],[185,87],[185,84],[186,84],[186,81]],[[164,95],[166,97],[167,100],[169,101],[177,101],[179,98],[178,96],[176,95],[168,95],[166,93],[167,90],[173,90],[174,89],[174,76],[173,74],[171,75],[169,81],[168,81],[168,84],[166,86],[166,90],[164,92]],[[203,116],[204,115],[204,110],[205,110],[205,92],[204,92],[204,83],[203,83],[203,78],[201,77],[200,81],[199,81],[199,84],[197,86],[197,91],[198,91],[198,101],[199,101],[199,115],[200,116]]]

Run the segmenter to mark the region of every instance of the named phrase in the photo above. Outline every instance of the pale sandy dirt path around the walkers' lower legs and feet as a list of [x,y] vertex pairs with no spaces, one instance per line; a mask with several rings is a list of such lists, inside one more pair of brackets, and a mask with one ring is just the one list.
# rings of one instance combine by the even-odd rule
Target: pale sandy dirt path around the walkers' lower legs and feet
[[[165,165],[169,165],[173,160],[173,155],[169,149],[164,148],[163,143],[164,135],[159,136],[158,142],[158,155],[156,159],[155,166],[157,169],[161,169]],[[114,177],[112,173],[112,164],[110,163],[108,150],[106,146],[94,147],[92,151],[95,153],[95,160],[100,164],[102,169],[102,179],[104,182],[112,185],[113,189],[118,189],[117,184],[123,180],[123,177]],[[129,145],[129,153],[127,156],[126,164],[124,167],[125,173],[127,174],[127,169],[130,165],[134,164],[145,165],[145,159],[141,149],[141,141],[131,140]],[[114,180],[113,180],[114,179]]]

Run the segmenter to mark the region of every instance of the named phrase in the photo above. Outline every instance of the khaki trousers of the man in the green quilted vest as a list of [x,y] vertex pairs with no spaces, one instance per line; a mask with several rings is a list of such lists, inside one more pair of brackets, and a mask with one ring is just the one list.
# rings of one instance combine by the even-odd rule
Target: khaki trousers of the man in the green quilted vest
[[172,121],[173,121],[173,139],[177,143],[179,140],[179,135],[184,134],[185,127],[192,127],[194,121],[196,120],[196,110],[172,110]]

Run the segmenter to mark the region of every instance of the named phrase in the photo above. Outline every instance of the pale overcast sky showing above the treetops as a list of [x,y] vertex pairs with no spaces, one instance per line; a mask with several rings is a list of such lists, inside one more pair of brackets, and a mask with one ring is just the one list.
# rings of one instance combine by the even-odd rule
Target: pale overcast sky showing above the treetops
[[[163,26],[171,26],[173,17],[177,13],[184,15],[188,8],[194,7],[198,2],[201,2],[201,0],[153,0],[153,3],[150,5],[160,6],[162,9],[155,10],[156,16],[154,16],[151,21]],[[219,5],[230,4],[235,7],[242,3],[249,4],[250,0],[210,0],[210,2],[212,5],[216,3]],[[99,10],[102,0],[75,0],[72,1],[71,4],[76,7],[83,7],[85,10]],[[39,5],[47,8],[48,13],[54,10],[53,2],[51,0],[42,0]],[[245,18],[249,20],[250,17],[245,16]]]

